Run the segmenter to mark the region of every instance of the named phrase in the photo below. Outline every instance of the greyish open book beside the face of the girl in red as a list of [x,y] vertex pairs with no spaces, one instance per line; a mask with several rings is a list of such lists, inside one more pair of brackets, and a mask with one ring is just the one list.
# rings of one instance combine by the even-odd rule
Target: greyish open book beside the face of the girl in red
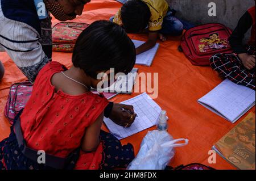
[[[133,91],[133,85],[135,83],[135,79],[137,77],[137,68],[133,68],[130,73],[127,75],[121,75],[117,78],[110,87],[106,87],[105,89],[98,89],[101,92],[116,92],[123,94],[130,94]],[[96,89],[93,89],[97,91]]]

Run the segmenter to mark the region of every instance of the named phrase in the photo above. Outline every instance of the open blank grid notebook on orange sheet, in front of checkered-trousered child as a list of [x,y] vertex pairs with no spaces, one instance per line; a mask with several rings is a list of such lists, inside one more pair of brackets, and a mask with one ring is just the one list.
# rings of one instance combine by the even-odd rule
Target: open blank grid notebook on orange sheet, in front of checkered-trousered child
[[255,91],[225,79],[198,102],[217,115],[235,123],[255,105]]

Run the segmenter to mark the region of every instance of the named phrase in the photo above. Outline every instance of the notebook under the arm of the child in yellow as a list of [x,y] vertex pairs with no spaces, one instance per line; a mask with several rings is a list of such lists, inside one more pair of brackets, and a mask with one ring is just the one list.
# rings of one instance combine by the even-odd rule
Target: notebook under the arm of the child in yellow
[[[132,41],[136,48],[141,46],[143,43],[145,43],[145,41],[139,41],[139,40],[132,40]],[[147,50],[146,52],[138,54],[136,56],[136,64],[151,66],[152,61],[155,58],[155,54],[158,51],[158,48],[159,48],[159,43],[156,43],[155,47],[151,48],[150,50]]]

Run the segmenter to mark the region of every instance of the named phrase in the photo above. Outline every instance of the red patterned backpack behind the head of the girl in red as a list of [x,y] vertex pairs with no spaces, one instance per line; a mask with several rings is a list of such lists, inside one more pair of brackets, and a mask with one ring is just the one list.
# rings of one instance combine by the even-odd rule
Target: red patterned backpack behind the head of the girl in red
[[73,52],[76,40],[89,24],[60,22],[52,28],[52,50],[55,52]]

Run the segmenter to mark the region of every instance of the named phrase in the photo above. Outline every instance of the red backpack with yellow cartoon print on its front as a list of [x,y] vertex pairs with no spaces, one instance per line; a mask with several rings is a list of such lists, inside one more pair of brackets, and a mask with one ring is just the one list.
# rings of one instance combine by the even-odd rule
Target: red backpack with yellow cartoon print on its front
[[232,31],[219,23],[203,24],[185,32],[181,48],[193,65],[209,66],[216,53],[231,53],[228,38]]

